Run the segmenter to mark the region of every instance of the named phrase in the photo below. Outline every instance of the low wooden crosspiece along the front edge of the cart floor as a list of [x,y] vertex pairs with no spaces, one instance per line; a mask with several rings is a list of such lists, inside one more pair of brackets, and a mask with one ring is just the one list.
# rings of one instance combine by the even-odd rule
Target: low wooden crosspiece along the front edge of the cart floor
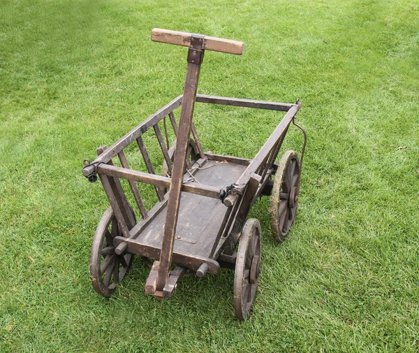
[[[115,237],[114,246],[117,247],[120,243],[126,243],[126,245],[128,245],[128,252],[131,254],[140,254],[141,256],[155,260],[159,260],[161,257],[161,250],[159,247],[152,247],[148,244],[141,243],[139,240],[124,238],[123,236]],[[218,262],[213,259],[193,254],[183,254],[176,251],[172,254],[172,262],[173,264],[191,268],[195,271],[198,270],[203,262],[205,262],[210,267],[208,272],[212,274],[218,273],[220,268]],[[161,264],[159,264],[159,266],[161,266]]]

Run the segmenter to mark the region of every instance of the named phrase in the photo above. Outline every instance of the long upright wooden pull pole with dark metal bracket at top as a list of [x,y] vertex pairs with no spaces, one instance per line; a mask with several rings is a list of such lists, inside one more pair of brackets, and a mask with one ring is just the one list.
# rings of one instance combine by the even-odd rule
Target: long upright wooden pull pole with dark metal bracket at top
[[203,48],[203,36],[192,35],[188,52],[188,67],[186,69],[179,130],[176,138],[175,158],[173,160],[172,182],[170,184],[166,222],[163,240],[161,242],[160,266],[157,275],[156,291],[163,291],[163,287],[168,280],[170,264],[172,262],[182,181],[186,165],[189,136],[191,134],[193,108],[195,106],[196,90],[198,89],[200,65],[204,55]]

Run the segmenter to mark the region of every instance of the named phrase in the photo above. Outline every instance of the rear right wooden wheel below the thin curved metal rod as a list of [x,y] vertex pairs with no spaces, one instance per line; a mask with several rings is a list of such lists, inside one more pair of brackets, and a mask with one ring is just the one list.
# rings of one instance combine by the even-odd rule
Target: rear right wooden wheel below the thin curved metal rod
[[279,161],[271,195],[271,230],[282,243],[293,225],[297,212],[300,183],[300,162],[297,152],[286,151]]

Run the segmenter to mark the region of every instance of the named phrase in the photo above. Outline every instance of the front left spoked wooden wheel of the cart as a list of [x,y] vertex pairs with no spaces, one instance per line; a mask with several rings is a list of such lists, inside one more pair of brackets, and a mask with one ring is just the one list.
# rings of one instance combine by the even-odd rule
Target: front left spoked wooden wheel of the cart
[[91,284],[103,296],[111,296],[115,292],[133,261],[133,254],[115,254],[115,236],[122,236],[122,231],[110,207],[105,210],[98,224],[90,257]]

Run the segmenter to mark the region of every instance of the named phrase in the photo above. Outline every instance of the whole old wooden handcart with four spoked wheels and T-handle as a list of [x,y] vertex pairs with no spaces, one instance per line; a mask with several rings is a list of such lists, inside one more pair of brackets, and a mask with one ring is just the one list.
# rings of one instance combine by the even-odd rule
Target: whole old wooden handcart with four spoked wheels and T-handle
[[[170,298],[185,275],[203,277],[217,273],[220,266],[234,268],[235,313],[239,319],[246,319],[256,295],[261,259],[260,224],[257,219],[247,219],[247,215],[258,197],[271,196],[274,238],[282,242],[293,224],[307,139],[295,123],[300,103],[196,94],[205,50],[241,55],[242,42],[163,29],[153,29],[152,40],[189,47],[184,94],[111,147],[99,147],[93,162],[84,161],[83,175],[91,182],[98,175],[110,202],[91,250],[93,287],[103,296],[112,295],[130,268],[133,254],[140,255],[151,267],[145,293],[159,298]],[[192,122],[196,102],[286,114],[254,159],[243,159],[204,152]],[[173,111],[179,106],[182,108],[177,124]],[[172,147],[166,117],[176,137]],[[166,138],[159,128],[161,120],[165,122]],[[285,152],[276,163],[291,122],[304,133],[301,163],[294,151]],[[142,138],[151,129],[163,153],[164,175],[155,173]],[[129,167],[124,150],[131,144],[138,144],[148,173]],[[121,166],[112,163],[116,157]],[[121,179],[128,180],[140,215],[138,222]],[[159,201],[150,210],[146,210],[136,182],[154,185]]]

